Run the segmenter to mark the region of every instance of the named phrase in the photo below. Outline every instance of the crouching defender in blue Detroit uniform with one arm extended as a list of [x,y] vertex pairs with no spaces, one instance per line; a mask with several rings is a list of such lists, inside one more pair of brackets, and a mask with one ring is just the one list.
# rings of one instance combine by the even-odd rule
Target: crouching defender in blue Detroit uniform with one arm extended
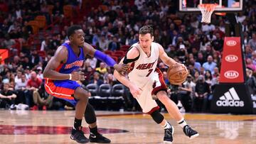
[[[68,28],[68,39],[70,42],[63,43],[50,59],[43,72],[46,79],[46,92],[59,99],[65,99],[75,106],[75,121],[70,138],[78,143],[110,143],[97,131],[95,111],[90,104],[87,104],[90,92],[82,89],[76,81],[83,80],[85,76],[78,72],[84,63],[85,56],[94,56],[99,60],[114,67],[117,72],[125,72],[126,65],[117,64],[111,57],[99,50],[95,50],[91,45],[85,43],[85,33],[80,26],[70,26]],[[85,114],[85,121],[89,124],[90,137],[87,139],[82,132],[82,117]]]

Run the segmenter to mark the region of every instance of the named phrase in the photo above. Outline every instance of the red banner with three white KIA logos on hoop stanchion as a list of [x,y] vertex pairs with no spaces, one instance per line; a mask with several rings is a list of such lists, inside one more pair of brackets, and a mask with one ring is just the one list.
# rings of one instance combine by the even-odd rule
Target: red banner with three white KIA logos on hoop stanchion
[[240,37],[225,37],[220,69],[220,83],[243,83]]

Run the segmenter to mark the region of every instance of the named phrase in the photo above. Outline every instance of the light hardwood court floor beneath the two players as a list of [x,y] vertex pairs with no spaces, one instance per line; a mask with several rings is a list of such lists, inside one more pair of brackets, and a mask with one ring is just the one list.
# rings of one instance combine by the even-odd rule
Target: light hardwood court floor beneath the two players
[[[75,143],[70,140],[75,111],[0,111],[0,143]],[[173,124],[174,144],[256,143],[255,115],[186,113],[188,123],[199,133],[189,140],[168,114]],[[113,144],[163,143],[164,130],[142,113],[97,111],[100,132]],[[88,137],[87,124],[82,121]]]

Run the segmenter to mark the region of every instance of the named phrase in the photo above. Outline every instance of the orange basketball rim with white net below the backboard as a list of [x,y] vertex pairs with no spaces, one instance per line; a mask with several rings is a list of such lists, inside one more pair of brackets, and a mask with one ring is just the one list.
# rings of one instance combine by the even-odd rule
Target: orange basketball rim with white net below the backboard
[[202,23],[210,23],[210,16],[216,6],[218,6],[218,4],[198,4],[198,9],[200,9],[202,13]]

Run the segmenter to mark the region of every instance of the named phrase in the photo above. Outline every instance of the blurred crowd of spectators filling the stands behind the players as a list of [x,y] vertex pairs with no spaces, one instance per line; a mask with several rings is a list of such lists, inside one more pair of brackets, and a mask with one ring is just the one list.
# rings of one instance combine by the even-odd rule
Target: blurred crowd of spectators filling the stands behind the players
[[[170,98],[181,111],[209,112],[212,93],[218,84],[228,18],[213,14],[212,23],[203,24],[200,13],[178,13],[177,3],[176,0],[0,0],[0,48],[9,51],[8,58],[0,57],[0,107],[74,109],[46,94],[42,74],[58,46],[68,40],[68,26],[80,25],[85,42],[118,62],[130,45],[138,42],[139,28],[151,25],[154,41],[190,72],[186,82],[171,85],[166,79],[168,67],[159,60]],[[245,0],[244,5],[245,11],[238,13],[238,21],[245,38],[246,81],[255,94],[256,2]],[[140,111],[129,89],[120,87],[112,75],[113,69],[104,62],[87,57],[82,71],[87,78],[81,84],[92,89],[90,103],[95,109]],[[164,106],[161,111],[166,111]]]

